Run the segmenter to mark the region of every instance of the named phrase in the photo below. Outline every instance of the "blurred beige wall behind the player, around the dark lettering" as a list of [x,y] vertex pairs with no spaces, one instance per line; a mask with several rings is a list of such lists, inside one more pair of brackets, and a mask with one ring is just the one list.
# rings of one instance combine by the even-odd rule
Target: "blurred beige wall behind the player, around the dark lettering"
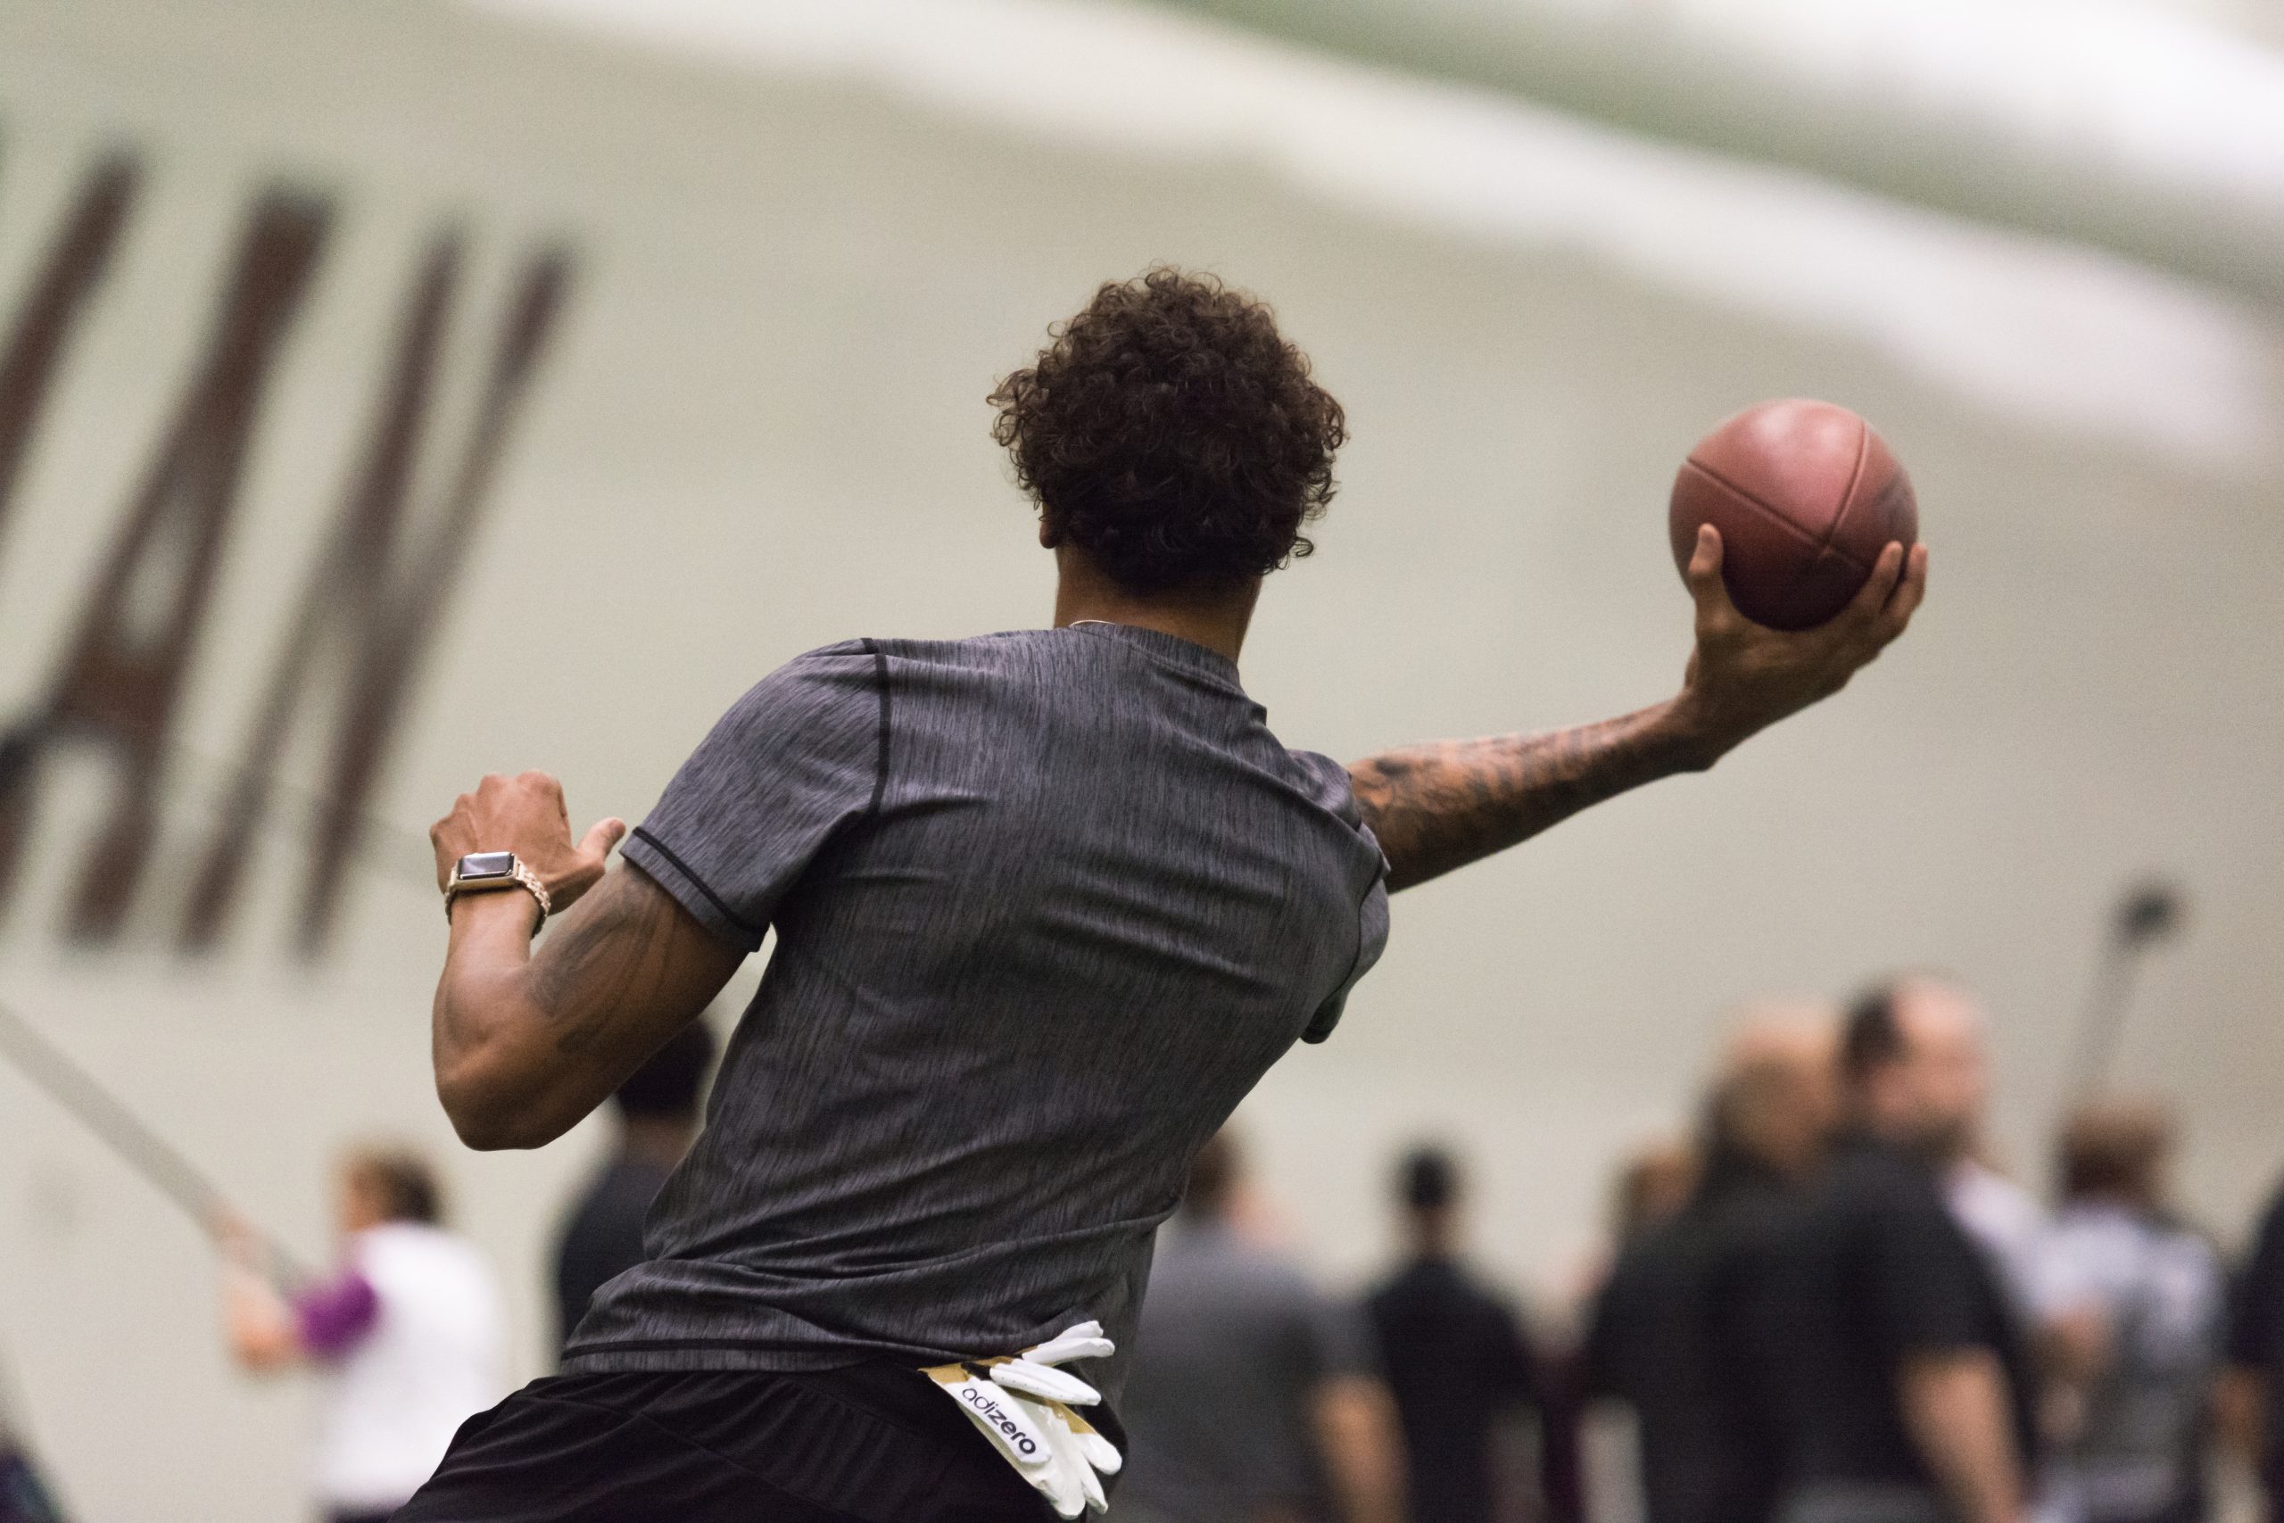
[[[1398,902],[1338,1039],[1297,1050],[1247,1107],[1313,1263],[1370,1270],[1384,1162],[1437,1133],[1478,1160],[1482,1254],[1560,1288],[1610,1162],[1679,1121],[1724,1007],[1896,964],[1989,991],[2001,1142],[2035,1169],[2097,925],[2147,865],[2188,884],[2195,925],[2154,964],[2122,1069],[2193,1098],[2190,1203],[2234,1228],[2284,1162],[2273,317],[2067,249],[1891,224],[1809,183],[1756,192],[1809,224],[1747,201],[1724,221],[1727,192],[1706,192],[1692,233],[1656,221],[1676,201],[1649,187],[1729,171],[1567,132],[1542,135],[1640,160],[1642,180],[1594,192],[1635,217],[1640,258],[1375,206],[1231,144],[1126,151],[866,71],[692,62],[443,5],[7,7],[0,322],[53,267],[91,167],[128,153],[142,178],[57,336],[0,518],[0,722],[48,706],[137,505],[174,527],[114,589],[103,648],[169,648],[183,550],[217,557],[126,920],[94,943],[66,934],[116,769],[59,749],[25,795],[0,1000],[308,1256],[343,1139],[432,1146],[514,1297],[518,1375],[537,1372],[546,1235],[601,1128],[534,1155],[455,1149],[427,1078],[443,925],[423,827],[480,772],[528,765],[564,776],[582,822],[640,817],[710,719],[797,651],[1042,621],[1048,562],[982,395],[1096,281],[1176,260],[1274,297],[1354,425],[1320,555],[1272,582],[1247,648],[1247,685],[1293,744],[1354,756],[1665,696],[1688,646],[1665,486],[1704,427],[1766,395],[1873,416],[1937,553],[1921,626],[1832,706]],[[183,397],[215,395],[199,384],[217,301],[276,185],[327,224],[258,395],[222,386],[247,416],[235,495],[212,450],[148,489]],[[1816,217],[1900,263],[1845,301],[1802,285],[1798,311],[1766,281],[1745,290],[1823,258],[1782,233]],[[283,653],[306,644],[313,674],[336,671],[340,632],[320,617],[304,635],[297,610],[386,457],[377,413],[448,228],[464,267],[397,550],[452,507],[464,461],[498,475],[459,498],[480,509],[459,578],[359,751],[377,781],[345,918],[324,952],[295,954],[308,790],[338,776],[336,715],[313,703],[249,836],[238,913],[187,957],[185,900],[206,893]],[[557,247],[560,320],[496,448],[471,454],[500,324]],[[1829,260],[1855,253],[1829,244]],[[276,279],[249,290],[274,299]],[[2056,292],[2083,295],[2083,324]],[[1951,311],[1969,297],[1987,313]],[[2140,317],[2104,306],[2129,297]],[[1898,333],[1893,311],[1953,322]],[[2117,338],[2142,320],[2147,343]],[[2108,411],[1962,379],[2104,368],[2124,388]],[[2186,427],[2136,427],[2168,406]],[[224,413],[190,432],[228,438]],[[2199,432],[2209,413],[2222,427]],[[183,502],[224,498],[228,532],[206,541]],[[420,628],[418,598],[395,601],[418,580],[368,543],[320,605],[384,589],[386,637]],[[100,722],[80,715],[78,733]],[[98,1523],[299,1516],[306,1395],[224,1368],[196,1233],[7,1071],[0,1117],[0,1361],[69,1500]]]

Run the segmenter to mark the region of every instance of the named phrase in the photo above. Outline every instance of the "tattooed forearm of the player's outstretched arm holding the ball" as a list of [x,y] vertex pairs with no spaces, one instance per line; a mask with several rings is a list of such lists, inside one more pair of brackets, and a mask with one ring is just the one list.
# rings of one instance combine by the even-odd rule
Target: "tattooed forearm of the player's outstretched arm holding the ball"
[[1672,706],[1546,735],[1434,740],[1352,763],[1366,824],[1409,888],[1503,852],[1590,804],[1711,763]]

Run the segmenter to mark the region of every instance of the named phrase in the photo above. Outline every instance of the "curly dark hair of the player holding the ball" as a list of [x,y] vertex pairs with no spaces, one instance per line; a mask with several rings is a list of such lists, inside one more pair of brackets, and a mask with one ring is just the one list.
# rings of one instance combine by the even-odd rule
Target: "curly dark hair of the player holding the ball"
[[1263,301],[1211,274],[1110,281],[991,406],[1016,482],[1135,596],[1213,591],[1316,546],[1348,420]]

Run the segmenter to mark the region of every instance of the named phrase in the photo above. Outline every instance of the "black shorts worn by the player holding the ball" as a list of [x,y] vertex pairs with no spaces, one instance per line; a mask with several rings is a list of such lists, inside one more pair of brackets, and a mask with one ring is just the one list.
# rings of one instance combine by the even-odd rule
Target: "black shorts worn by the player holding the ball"
[[395,1523],[1053,1523],[918,1370],[557,1375],[468,1418]]

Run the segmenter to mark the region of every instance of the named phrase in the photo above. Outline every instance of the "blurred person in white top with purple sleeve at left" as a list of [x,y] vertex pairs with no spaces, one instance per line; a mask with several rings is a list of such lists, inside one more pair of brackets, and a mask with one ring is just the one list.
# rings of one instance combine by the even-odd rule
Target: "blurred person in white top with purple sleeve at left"
[[242,1224],[224,1231],[224,1327],[258,1375],[324,1379],[315,1493],[327,1523],[379,1523],[507,1391],[500,1297],[482,1256],[441,1224],[429,1165],[356,1149],[338,1176],[340,1267],[281,1295]]

